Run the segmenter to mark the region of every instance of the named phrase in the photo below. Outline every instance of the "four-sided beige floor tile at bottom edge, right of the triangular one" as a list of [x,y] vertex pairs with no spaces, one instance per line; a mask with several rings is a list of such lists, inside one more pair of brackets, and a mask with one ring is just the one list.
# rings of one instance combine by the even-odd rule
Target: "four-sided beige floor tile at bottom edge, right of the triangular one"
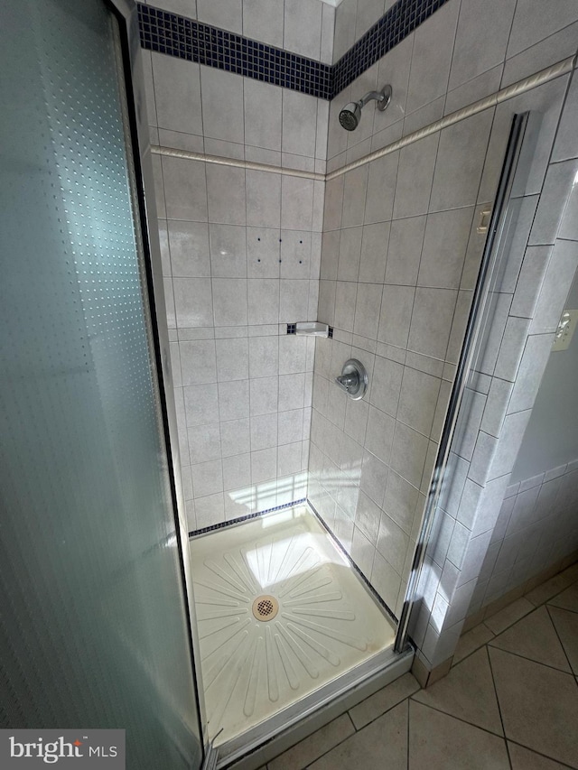
[[[388,767],[385,762],[378,766]],[[409,770],[509,770],[506,741],[410,700],[408,767]]]

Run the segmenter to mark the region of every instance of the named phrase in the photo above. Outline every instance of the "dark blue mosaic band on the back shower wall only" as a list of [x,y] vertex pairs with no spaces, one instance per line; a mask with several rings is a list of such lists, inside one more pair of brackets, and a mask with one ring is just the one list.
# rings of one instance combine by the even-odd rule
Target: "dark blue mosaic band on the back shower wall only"
[[331,98],[331,67],[234,32],[138,5],[141,45],[219,70]]

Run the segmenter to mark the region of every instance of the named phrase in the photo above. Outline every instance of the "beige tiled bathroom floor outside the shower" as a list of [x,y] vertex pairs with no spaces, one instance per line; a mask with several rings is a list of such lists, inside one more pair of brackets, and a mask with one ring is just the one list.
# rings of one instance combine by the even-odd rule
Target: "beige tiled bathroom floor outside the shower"
[[406,673],[267,770],[381,767],[578,768],[578,564],[463,635],[427,690]]

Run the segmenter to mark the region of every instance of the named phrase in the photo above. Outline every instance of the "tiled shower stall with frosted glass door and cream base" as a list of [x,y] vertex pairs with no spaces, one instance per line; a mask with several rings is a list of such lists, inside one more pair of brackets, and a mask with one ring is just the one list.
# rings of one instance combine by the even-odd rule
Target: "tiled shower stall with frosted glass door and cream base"
[[7,4],[0,724],[258,767],[497,596],[575,60],[430,102],[459,0],[368,66],[391,4],[186,5]]

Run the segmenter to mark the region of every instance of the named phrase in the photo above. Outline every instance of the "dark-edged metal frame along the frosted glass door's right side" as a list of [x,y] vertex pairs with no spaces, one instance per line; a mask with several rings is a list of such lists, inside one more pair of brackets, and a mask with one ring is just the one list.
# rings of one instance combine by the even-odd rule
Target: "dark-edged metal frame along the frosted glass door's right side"
[[[177,431],[176,407],[172,384],[169,331],[163,289],[163,264],[158,236],[158,223],[154,197],[154,173],[147,121],[144,69],[138,14],[134,0],[105,0],[116,15],[121,32],[124,85],[130,124],[130,138],[135,163],[137,213],[144,251],[144,300],[151,320],[150,347],[154,355],[160,409],[163,422],[163,439],[167,456],[167,470],[171,483],[175,530],[181,562],[182,588],[185,596],[183,612],[189,627],[193,690],[199,715],[199,734],[202,741],[203,767],[214,760],[214,749],[207,738],[207,719],[202,685],[200,682],[199,640],[194,614],[192,593],[191,554],[189,551],[189,527],[187,524],[182,493],[181,460]],[[130,150],[127,148],[127,152]]]

